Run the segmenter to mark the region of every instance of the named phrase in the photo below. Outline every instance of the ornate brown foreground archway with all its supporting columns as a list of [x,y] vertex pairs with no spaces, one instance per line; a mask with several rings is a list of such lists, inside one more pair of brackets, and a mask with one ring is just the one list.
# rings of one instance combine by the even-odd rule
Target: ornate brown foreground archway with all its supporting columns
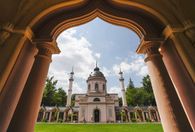
[[[13,18],[15,25],[8,24],[2,28],[1,45],[5,42],[12,44],[8,48],[4,48],[7,45],[1,47],[1,54],[10,51],[9,55],[2,57],[0,67],[3,69],[0,76],[0,105],[5,106],[0,111],[3,130],[9,126],[10,131],[33,131],[51,56],[60,52],[55,42],[57,36],[63,30],[95,17],[127,27],[140,37],[137,53],[146,54],[164,130],[182,131],[190,130],[191,127],[195,130],[195,104],[192,101],[195,93],[192,59],[195,52],[191,45],[194,42],[193,25],[185,26],[178,22],[179,28],[172,28],[169,25],[177,22],[176,18],[166,18],[141,2],[76,0],[48,4],[48,7],[32,11],[33,15],[25,20],[22,15],[16,15]],[[23,8],[24,5],[25,2],[21,2],[19,7]],[[186,47],[190,54],[185,50]],[[17,74],[19,71],[20,77]],[[21,124],[25,124],[25,127]]]

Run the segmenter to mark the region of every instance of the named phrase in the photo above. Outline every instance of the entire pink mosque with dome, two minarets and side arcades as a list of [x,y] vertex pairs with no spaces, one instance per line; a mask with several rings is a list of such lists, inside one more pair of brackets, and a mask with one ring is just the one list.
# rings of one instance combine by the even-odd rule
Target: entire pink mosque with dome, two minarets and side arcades
[[107,80],[96,65],[87,78],[87,92],[75,95],[75,104],[71,105],[74,72],[70,73],[66,107],[41,106],[38,122],[74,122],[74,123],[121,123],[121,122],[160,122],[156,106],[128,107],[125,95],[123,72],[119,72],[122,92],[122,104],[119,106],[117,93],[107,92]]

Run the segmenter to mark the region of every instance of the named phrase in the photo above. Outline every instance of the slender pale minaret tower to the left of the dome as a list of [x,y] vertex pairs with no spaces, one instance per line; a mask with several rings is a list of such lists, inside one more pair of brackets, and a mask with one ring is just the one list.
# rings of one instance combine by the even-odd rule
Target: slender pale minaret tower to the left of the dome
[[66,106],[71,106],[71,97],[72,97],[72,85],[73,85],[73,78],[74,72],[72,68],[72,72],[70,73],[70,78],[69,78],[69,88],[68,88],[68,97],[67,97],[67,103]]

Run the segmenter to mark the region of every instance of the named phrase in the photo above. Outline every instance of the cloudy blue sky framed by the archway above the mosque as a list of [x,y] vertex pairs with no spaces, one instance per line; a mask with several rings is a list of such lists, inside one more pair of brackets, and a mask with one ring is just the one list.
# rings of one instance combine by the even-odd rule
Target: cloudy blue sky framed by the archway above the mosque
[[129,78],[137,87],[148,71],[143,55],[136,54],[139,37],[131,30],[112,25],[99,18],[62,32],[57,39],[61,50],[53,55],[48,76],[54,76],[58,87],[68,89],[68,73],[74,66],[73,93],[86,92],[86,79],[97,60],[107,79],[108,92],[119,93],[118,72],[124,72],[125,85]]

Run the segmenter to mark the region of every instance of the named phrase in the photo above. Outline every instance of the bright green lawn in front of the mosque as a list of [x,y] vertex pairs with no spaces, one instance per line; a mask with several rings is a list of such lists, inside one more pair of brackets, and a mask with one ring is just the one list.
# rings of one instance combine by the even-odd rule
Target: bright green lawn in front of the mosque
[[161,124],[36,124],[35,132],[163,132]]

